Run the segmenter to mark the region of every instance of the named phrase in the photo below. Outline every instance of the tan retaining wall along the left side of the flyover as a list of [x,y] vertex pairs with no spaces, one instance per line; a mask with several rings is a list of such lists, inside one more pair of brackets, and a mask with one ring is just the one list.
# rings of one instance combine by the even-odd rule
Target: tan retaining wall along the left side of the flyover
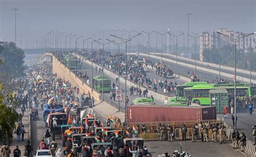
[[92,90],[90,86],[83,83],[83,81],[76,77],[75,73],[71,72],[68,67],[63,65],[55,56],[52,56],[52,72],[56,73],[58,77],[68,80],[73,86],[77,86],[80,88],[80,92],[91,92],[91,96],[95,98],[95,100],[99,100],[100,93]]

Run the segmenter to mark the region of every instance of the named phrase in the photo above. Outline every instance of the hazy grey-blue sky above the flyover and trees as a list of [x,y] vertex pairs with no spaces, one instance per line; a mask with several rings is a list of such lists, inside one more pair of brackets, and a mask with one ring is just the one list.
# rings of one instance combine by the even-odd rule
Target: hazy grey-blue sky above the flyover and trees
[[187,32],[188,12],[191,32],[256,30],[255,0],[0,0],[0,40],[14,41],[15,7],[17,44],[41,42],[50,30],[86,36],[105,29],[160,31],[169,25],[171,31]]

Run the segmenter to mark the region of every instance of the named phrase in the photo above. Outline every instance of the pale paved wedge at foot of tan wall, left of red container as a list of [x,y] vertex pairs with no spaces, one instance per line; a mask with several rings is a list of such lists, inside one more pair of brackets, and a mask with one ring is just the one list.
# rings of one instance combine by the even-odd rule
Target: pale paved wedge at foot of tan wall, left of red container
[[125,114],[123,112],[118,112],[117,108],[112,107],[104,101],[102,103],[100,101],[96,102],[92,108],[104,119],[112,115],[113,117],[118,117],[122,122],[125,120]]

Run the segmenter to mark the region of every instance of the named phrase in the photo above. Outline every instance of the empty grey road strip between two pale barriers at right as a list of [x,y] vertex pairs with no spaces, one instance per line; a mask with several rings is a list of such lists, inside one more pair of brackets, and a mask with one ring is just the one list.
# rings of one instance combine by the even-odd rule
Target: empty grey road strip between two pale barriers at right
[[[159,57],[161,56],[160,53],[159,53],[159,54],[153,54],[153,55],[159,56]],[[166,54],[166,53],[163,53],[163,57],[164,57],[164,58],[169,58],[169,59],[172,59],[172,60],[176,60],[176,57],[169,56],[169,55]],[[183,63],[191,64],[191,65],[194,66],[194,62],[191,62],[190,60],[184,60],[184,59],[179,59],[179,58],[178,58],[178,62],[183,62]],[[200,64],[200,63],[198,63],[198,62],[197,62],[197,66],[206,67],[205,65]],[[218,68],[218,67],[212,67],[212,66],[210,66],[210,69],[219,71],[219,68]],[[232,71],[232,70],[220,69],[220,71],[221,71],[221,72],[230,73],[230,74],[234,74],[234,71]],[[237,75],[238,75],[238,76],[241,76],[241,77],[250,78],[250,73],[245,74],[245,73],[237,72]],[[256,78],[256,76],[252,75],[252,79],[255,79],[255,78]]]

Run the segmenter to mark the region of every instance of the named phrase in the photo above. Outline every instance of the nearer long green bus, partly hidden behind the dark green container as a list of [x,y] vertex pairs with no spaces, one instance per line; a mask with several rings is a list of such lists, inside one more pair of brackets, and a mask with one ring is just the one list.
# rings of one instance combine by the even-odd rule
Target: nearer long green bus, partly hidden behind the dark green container
[[[184,88],[185,98],[199,105],[210,105],[210,90],[226,89],[229,97],[234,97],[234,84],[200,84]],[[236,94],[239,97],[256,95],[256,86],[238,84]]]

